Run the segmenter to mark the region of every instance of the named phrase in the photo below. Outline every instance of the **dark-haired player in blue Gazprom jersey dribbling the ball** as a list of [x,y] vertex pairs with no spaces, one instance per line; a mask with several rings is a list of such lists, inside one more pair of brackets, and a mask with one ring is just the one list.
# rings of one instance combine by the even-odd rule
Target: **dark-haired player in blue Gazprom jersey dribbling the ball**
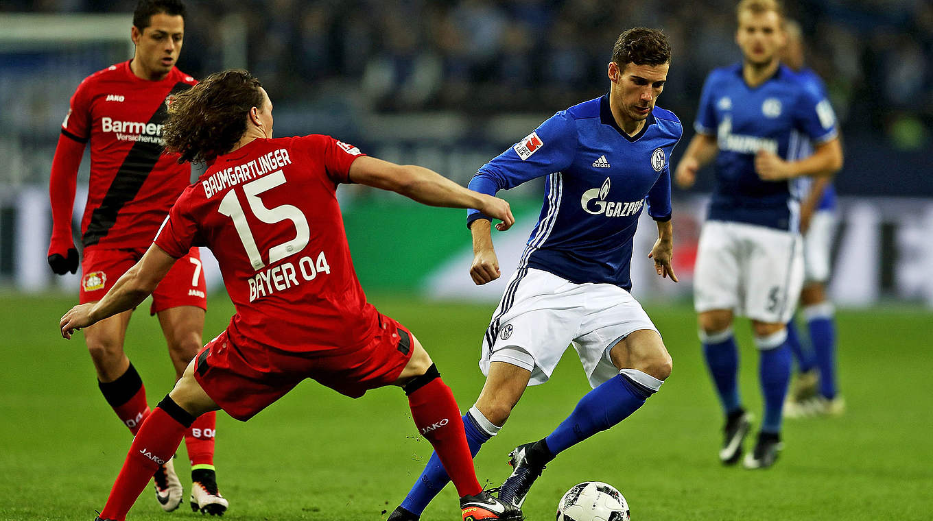
[[[682,128],[673,113],[655,106],[670,61],[660,31],[620,34],[607,95],[550,117],[469,184],[494,194],[547,176],[537,226],[482,340],[486,383],[463,417],[473,454],[502,428],[528,385],[548,381],[569,344],[593,388],[554,432],[511,452],[514,472],[500,500],[521,506],[550,459],[627,418],[671,373],[661,335],[629,294],[633,237],[646,199],[659,235],[648,256],[658,275],[676,281],[668,158]],[[470,276],[477,284],[494,281],[499,267],[489,216],[471,210],[467,225]],[[432,456],[389,519],[417,519],[448,480]]]

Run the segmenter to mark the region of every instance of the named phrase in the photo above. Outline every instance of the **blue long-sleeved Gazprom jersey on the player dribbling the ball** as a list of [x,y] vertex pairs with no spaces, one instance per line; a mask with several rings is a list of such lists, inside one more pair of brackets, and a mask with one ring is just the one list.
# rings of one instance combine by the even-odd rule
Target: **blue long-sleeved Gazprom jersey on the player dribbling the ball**
[[[469,187],[486,194],[547,176],[544,205],[519,269],[567,281],[632,288],[632,238],[648,214],[671,218],[669,158],[683,134],[674,113],[655,107],[634,137],[622,131],[608,96],[558,112],[480,168]],[[476,210],[467,224],[488,218]]]

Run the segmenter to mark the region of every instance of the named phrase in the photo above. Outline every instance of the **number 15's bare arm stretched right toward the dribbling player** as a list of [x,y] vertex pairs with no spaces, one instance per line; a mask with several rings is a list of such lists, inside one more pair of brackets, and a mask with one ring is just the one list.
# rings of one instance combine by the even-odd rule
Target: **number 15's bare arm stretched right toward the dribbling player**
[[363,157],[350,165],[350,180],[397,192],[429,206],[475,208],[502,221],[499,231],[515,223],[508,202],[457,185],[438,172],[416,165],[397,165],[382,159]]

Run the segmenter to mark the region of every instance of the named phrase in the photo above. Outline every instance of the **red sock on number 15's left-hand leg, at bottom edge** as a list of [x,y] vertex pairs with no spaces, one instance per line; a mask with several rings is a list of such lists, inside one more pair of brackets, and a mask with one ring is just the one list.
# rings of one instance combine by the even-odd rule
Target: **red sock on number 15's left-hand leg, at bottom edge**
[[[110,497],[107,498],[104,512],[101,513],[102,519],[123,521],[126,513],[130,512],[132,503],[149,484],[152,474],[156,473],[162,463],[174,456],[175,449],[181,444],[181,438],[188,426],[174,417],[183,417],[188,413],[174,402],[165,406],[168,400],[171,399],[166,397],[149,414],[136,437],[132,439],[130,453],[127,454],[117,481],[110,490]],[[174,405],[174,408],[171,405]],[[166,409],[173,409],[172,414],[166,412]],[[178,414],[174,409],[182,414]]]

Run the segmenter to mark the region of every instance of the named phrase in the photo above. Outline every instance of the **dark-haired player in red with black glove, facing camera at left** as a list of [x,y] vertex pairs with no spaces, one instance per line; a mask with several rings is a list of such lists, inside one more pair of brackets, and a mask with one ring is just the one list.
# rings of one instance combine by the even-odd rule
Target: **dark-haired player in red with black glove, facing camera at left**
[[[185,36],[185,6],[178,0],[144,0],[133,12],[132,60],[85,78],[71,98],[55,149],[49,180],[52,237],[49,266],[63,275],[77,271],[71,214],[77,168],[91,142],[91,181],[81,220],[81,303],[100,300],[152,242],[172,203],[188,186],[191,170],[163,156],[162,123],[178,92],[195,84],[175,67]],[[175,377],[202,348],[204,276],[197,248],[155,289],[151,314],[159,316]],[[95,324],[85,341],[98,386],[117,416],[135,434],[149,414],[146,389],[123,349],[132,309]],[[185,433],[191,464],[191,508],[222,514],[214,468],[216,414],[204,415]],[[172,459],[154,476],[156,499],[167,512],[178,508],[182,486]]]

